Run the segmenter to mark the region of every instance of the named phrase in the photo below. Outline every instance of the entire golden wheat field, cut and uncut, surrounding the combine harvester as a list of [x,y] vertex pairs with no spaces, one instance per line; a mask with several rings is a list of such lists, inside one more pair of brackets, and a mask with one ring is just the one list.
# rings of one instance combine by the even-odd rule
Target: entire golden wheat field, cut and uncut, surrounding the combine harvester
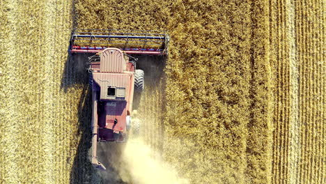
[[107,173],[91,167],[74,27],[169,32],[134,99],[157,183],[162,163],[186,183],[326,183],[324,1],[1,1],[0,24],[0,183],[155,182],[114,164],[116,144]]

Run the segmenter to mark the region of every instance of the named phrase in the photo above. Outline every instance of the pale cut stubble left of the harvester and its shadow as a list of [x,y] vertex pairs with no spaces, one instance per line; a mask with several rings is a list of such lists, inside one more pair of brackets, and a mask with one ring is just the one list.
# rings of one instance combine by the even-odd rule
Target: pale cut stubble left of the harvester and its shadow
[[[71,1],[1,1],[0,183],[69,183],[83,86],[67,62]],[[62,85],[61,85],[62,84]]]

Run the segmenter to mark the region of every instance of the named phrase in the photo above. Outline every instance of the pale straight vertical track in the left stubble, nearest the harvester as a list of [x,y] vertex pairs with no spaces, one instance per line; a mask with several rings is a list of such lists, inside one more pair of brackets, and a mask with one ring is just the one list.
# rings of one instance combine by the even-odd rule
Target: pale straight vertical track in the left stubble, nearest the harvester
[[44,182],[45,183],[55,183],[55,167],[54,162],[56,161],[54,155],[55,142],[54,130],[54,35],[56,31],[55,27],[55,16],[56,16],[56,1],[46,1],[45,2],[45,17],[43,25],[46,27],[44,44],[47,46],[47,53],[44,57],[44,83],[43,83],[43,125],[44,132],[42,134],[42,140],[44,141],[45,150],[45,160],[44,160]]

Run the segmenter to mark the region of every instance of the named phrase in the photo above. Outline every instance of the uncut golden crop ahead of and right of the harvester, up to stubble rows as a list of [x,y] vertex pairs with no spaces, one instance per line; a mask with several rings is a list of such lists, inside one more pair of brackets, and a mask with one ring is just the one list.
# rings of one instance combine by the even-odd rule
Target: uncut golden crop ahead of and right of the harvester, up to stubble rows
[[[145,96],[139,111],[148,130],[155,131],[145,132],[146,141],[192,183],[270,181],[265,6],[250,1],[76,4],[79,28],[169,31],[166,85],[146,92],[152,99],[164,94],[166,105]],[[157,121],[164,122],[164,138],[150,125]]]

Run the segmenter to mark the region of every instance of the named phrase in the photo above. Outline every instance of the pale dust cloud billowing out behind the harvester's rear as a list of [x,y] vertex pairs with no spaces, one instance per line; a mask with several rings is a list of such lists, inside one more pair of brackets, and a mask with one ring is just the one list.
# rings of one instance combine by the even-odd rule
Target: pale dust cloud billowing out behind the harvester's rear
[[[106,171],[99,171],[103,183],[189,184],[187,179],[179,178],[177,171],[140,138],[129,139],[125,144],[99,145],[98,158],[107,167]],[[109,150],[104,153],[104,148]]]

